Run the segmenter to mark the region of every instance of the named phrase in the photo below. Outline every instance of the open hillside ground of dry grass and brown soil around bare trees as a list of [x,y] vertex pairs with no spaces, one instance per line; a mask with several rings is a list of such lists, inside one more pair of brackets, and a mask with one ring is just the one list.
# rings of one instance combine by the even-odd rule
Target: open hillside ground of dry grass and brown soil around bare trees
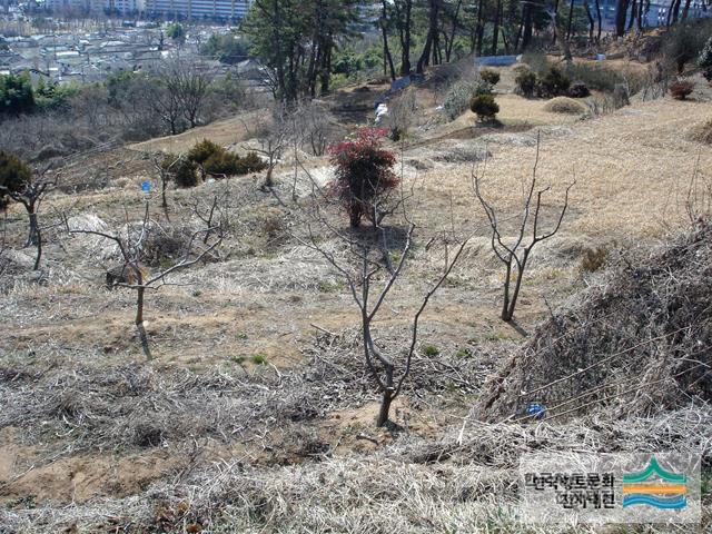
[[[165,228],[199,227],[190,207],[228,194],[231,229],[218,260],[147,295],[150,362],[132,325],[135,295],[103,286],[116,250],[55,227],[41,273],[31,273],[24,214],[12,206],[10,248],[0,258],[0,531],[472,532],[475,524],[476,532],[530,532],[513,513],[510,478],[520,452],[547,438],[564,449],[574,442],[590,451],[643,446],[652,433],[644,421],[615,442],[619,431],[606,422],[594,436],[587,421],[527,426],[467,416],[497,365],[550,309],[585,287],[586,249],[646,247],[685,222],[688,184],[695,168],[709,178],[712,155],[683,134],[712,111],[665,98],[581,120],[506,88],[497,97],[500,128],[475,125],[469,112],[451,123],[433,120],[438,98],[424,88],[425,126],[392,146],[414,186],[421,246],[376,325],[385,347],[403,347],[412,310],[439,271],[442,249],[424,244],[453,226],[474,237],[423,317],[414,375],[388,428],[374,428],[377,395],[346,286],[294,239],[294,210],[259,189],[261,177],[171,189],[170,222],[151,194],[151,215]],[[382,89],[346,91],[333,111],[346,125],[362,123]],[[145,152],[185,151],[202,138],[239,146],[264,120],[249,113],[77,158],[42,217],[67,212],[75,227],[119,230],[142,215],[140,184],[156,184]],[[517,212],[537,138],[537,176],[553,186],[546,224],[564,186],[576,185],[563,229],[536,249],[516,324],[507,325],[498,319],[503,273],[487,248],[472,174],[483,176],[485,195],[505,216]],[[293,192],[291,164],[285,157],[277,169],[281,199]],[[326,158],[305,167],[317,179],[330,174]],[[304,170],[297,186],[309,187]],[[670,425],[681,433],[661,445],[702,432],[678,415]],[[393,512],[388,500],[403,508]]]

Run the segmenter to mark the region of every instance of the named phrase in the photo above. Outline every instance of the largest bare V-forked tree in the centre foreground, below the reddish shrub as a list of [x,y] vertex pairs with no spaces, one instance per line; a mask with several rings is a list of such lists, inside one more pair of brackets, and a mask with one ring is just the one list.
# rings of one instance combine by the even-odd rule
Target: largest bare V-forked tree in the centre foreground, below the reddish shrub
[[[375,227],[342,229],[329,220],[329,216],[323,206],[328,204],[324,191],[313,181],[312,209],[305,209],[306,214],[304,235],[295,237],[299,243],[316,250],[334,268],[347,284],[353,301],[357,306],[360,316],[360,336],[364,350],[364,359],[368,373],[374,378],[382,396],[380,409],[376,419],[377,426],[384,426],[389,418],[393,400],[399,395],[403,385],[412,372],[413,356],[418,342],[418,324],[423,312],[431,297],[446,280],[458,258],[461,257],[468,239],[464,239],[455,254],[451,257],[445,253],[445,265],[439,277],[432,284],[411,320],[409,339],[406,340],[405,355],[398,358],[397,350],[386,350],[379,346],[374,333],[374,323],[382,312],[386,298],[402,278],[407,260],[412,256],[413,239],[416,229],[406,212],[404,202],[397,202],[389,210],[394,215],[398,207],[403,207],[402,216],[405,226],[400,230],[387,227],[386,217],[379,218]],[[324,234],[335,239],[339,248],[345,248],[345,255],[338,255],[325,241]],[[400,237],[398,238],[398,235]],[[447,243],[445,243],[447,248]],[[396,265],[390,265],[387,259],[396,255]],[[389,354],[387,354],[389,353]]]

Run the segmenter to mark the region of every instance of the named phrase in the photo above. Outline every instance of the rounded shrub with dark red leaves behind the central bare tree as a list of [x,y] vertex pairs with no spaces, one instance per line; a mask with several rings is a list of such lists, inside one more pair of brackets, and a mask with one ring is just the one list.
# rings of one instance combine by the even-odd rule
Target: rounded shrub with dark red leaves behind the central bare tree
[[395,156],[380,146],[387,134],[384,128],[364,128],[356,140],[338,142],[328,149],[336,167],[328,192],[342,201],[354,228],[360,226],[364,217],[376,226],[380,215],[376,212],[376,202],[387,202],[388,192],[400,181],[392,170]]

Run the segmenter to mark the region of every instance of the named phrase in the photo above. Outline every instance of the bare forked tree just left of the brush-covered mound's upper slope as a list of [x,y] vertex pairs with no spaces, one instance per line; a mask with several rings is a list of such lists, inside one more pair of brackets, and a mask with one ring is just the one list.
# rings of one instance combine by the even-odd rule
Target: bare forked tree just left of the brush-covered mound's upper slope
[[[504,264],[504,296],[502,300],[502,320],[510,323],[514,318],[514,310],[522,288],[522,280],[524,279],[524,271],[531,259],[532,249],[541,241],[554,236],[561,228],[564,215],[568,208],[568,191],[574,186],[575,181],[566,186],[564,194],[564,202],[561,207],[558,216],[554,226],[548,231],[542,231],[540,217],[542,216],[542,196],[551,190],[552,186],[546,186],[543,189],[536,189],[536,168],[538,166],[540,158],[540,138],[536,139],[536,158],[534,160],[534,168],[532,170],[532,180],[526,187],[523,188],[523,207],[522,215],[520,217],[518,226],[515,230],[513,239],[507,239],[503,235],[503,220],[497,217],[497,212],[494,207],[484,198],[481,190],[481,184],[486,170],[486,161],[483,167],[482,176],[478,175],[477,168],[473,167],[472,184],[475,191],[475,196],[481,206],[487,215],[490,227],[492,230],[491,247],[495,256],[500,261]],[[531,231],[531,237],[525,238],[527,233]]]

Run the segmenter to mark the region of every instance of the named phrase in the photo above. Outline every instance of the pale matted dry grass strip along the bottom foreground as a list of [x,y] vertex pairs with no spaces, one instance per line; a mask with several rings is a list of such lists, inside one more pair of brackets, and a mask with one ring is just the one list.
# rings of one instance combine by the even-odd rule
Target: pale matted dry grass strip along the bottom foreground
[[[196,531],[188,532],[593,534],[600,532],[593,526],[535,525],[517,517],[520,454],[654,446],[695,449],[709,458],[711,425],[709,408],[672,412],[654,424],[630,419],[624,427],[600,419],[556,426],[466,421],[438,442],[404,435],[369,456],[269,468],[235,458],[155,484],[146,497],[9,511],[6,525],[19,533],[75,524],[79,531],[130,525],[134,532],[185,532],[191,525]],[[711,521],[706,508],[702,521],[704,531]]]

